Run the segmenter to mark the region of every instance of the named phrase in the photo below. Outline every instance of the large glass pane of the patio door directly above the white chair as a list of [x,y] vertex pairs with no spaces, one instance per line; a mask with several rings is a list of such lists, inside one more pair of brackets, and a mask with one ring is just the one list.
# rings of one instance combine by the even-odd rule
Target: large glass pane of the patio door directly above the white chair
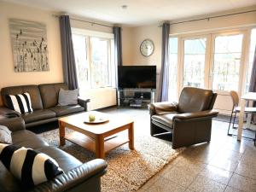
[[242,34],[215,38],[213,90],[238,90],[242,38]]

